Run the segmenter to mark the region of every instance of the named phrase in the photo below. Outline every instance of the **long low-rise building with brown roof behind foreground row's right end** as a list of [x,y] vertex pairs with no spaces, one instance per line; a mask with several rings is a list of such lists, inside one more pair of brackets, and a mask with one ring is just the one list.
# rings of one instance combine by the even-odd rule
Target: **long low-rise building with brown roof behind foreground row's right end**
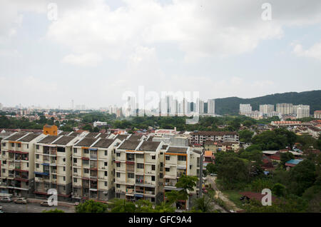
[[239,142],[238,133],[235,131],[195,131],[190,133],[189,143],[203,145],[205,141]]

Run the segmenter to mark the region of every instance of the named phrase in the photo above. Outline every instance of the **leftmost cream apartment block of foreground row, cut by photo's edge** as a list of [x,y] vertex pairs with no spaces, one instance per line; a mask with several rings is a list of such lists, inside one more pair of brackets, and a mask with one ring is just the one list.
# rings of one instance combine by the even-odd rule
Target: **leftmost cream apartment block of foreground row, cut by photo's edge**
[[40,133],[13,133],[1,141],[2,193],[27,196],[34,193],[34,145]]

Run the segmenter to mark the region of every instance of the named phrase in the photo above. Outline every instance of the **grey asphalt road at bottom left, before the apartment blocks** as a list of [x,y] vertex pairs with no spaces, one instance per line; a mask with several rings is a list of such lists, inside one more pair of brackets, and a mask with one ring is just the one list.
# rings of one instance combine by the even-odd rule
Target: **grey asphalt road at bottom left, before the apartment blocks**
[[44,210],[49,211],[56,208],[58,210],[65,211],[65,213],[75,212],[74,207],[68,208],[66,206],[40,206],[39,203],[16,204],[14,202],[11,202],[0,203],[0,206],[2,206],[2,211],[4,211],[4,213],[41,213]]

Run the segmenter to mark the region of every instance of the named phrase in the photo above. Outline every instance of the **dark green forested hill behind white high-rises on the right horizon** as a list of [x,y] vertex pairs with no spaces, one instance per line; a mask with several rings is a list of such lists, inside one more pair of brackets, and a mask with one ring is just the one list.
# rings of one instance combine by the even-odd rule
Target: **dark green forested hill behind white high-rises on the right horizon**
[[[262,104],[305,104],[310,105],[310,114],[321,110],[321,90],[304,92],[287,92],[283,94],[272,94],[253,99],[240,99],[238,97],[229,97],[215,99],[215,114],[238,114],[240,104],[251,104],[253,111],[259,110]],[[276,108],[276,106],[275,106]]]

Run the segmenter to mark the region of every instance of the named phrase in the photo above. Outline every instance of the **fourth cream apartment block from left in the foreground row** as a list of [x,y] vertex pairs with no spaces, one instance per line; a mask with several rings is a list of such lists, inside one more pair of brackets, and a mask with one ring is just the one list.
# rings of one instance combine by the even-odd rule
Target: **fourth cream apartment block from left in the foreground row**
[[116,149],[116,198],[161,201],[160,152],[163,142],[123,141]]

